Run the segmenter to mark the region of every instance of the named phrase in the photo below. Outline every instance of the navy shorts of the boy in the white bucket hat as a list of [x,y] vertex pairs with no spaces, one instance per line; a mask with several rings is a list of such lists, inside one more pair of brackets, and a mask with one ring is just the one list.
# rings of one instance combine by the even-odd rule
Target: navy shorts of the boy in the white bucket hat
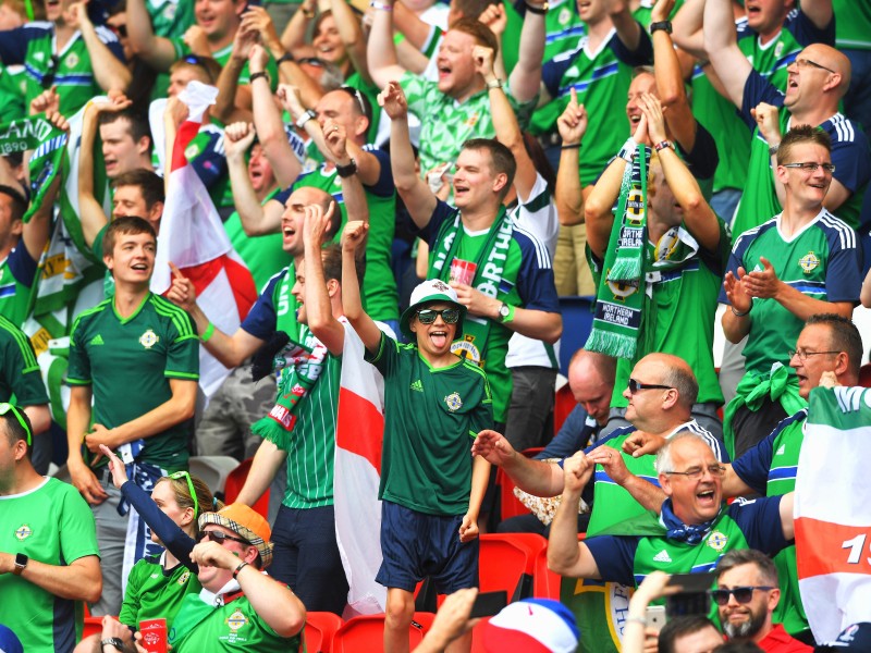
[[463,515],[425,515],[381,502],[381,554],[376,581],[387,588],[414,592],[430,577],[440,594],[478,587],[479,541],[459,541]]

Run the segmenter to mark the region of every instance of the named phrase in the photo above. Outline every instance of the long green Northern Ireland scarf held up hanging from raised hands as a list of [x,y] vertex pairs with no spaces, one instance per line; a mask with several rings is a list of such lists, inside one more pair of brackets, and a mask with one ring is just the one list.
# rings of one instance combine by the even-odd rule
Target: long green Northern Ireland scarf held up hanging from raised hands
[[650,149],[638,146],[623,173],[617,214],[604,257],[592,331],[585,348],[616,358],[633,358],[646,304],[647,171]]

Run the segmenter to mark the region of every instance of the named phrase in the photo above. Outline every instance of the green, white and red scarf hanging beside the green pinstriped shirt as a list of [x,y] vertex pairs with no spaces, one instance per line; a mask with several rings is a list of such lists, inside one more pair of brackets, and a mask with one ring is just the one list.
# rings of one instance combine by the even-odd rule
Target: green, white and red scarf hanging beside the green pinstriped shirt
[[329,352],[308,328],[302,328],[304,342],[291,340],[273,358],[273,369],[281,370],[279,393],[269,415],[252,424],[252,432],[262,435],[281,449],[289,449],[299,402],[317,382]]

